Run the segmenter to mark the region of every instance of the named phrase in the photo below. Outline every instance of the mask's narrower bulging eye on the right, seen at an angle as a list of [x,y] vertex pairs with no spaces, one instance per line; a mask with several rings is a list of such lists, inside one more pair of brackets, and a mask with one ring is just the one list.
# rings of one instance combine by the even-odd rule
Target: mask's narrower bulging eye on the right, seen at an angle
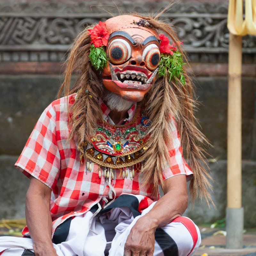
[[160,51],[156,44],[149,44],[142,52],[142,59],[145,60],[146,67],[154,70],[160,60]]

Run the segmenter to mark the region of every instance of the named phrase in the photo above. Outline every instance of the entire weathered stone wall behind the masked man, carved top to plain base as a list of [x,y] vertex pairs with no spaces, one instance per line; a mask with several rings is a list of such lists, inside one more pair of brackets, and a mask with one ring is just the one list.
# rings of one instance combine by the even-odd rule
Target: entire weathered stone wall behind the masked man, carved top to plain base
[[[25,216],[29,180],[14,168],[44,108],[57,94],[60,61],[84,26],[114,14],[156,13],[160,0],[2,0],[0,1],[0,219]],[[101,6],[99,6],[101,4]],[[104,8],[106,11],[103,11]],[[192,61],[202,132],[208,150],[218,211],[196,203],[187,215],[197,224],[225,216],[228,97],[227,0],[174,2],[161,19],[169,20]],[[245,226],[256,227],[256,37],[243,37],[243,206]],[[63,71],[63,70],[62,70]]]

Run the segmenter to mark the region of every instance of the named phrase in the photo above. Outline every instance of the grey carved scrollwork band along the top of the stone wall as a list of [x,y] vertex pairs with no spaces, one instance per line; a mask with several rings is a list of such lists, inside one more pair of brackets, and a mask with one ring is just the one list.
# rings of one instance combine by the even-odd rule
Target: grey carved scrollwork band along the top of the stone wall
[[[76,35],[108,12],[156,13],[170,1],[1,1],[0,61],[63,61]],[[117,9],[118,7],[118,9]],[[106,11],[102,10],[105,9]],[[108,11],[108,12],[107,12]],[[228,1],[182,1],[161,15],[175,27],[192,62],[227,62]],[[256,39],[244,37],[244,61],[255,63]]]

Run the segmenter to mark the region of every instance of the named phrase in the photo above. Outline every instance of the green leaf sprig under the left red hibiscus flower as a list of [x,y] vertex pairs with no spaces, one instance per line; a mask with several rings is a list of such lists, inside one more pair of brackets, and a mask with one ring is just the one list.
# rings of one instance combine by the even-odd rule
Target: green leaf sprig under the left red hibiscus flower
[[94,44],[91,44],[89,58],[92,66],[96,70],[101,71],[103,68],[107,67],[108,57],[104,50],[104,46],[95,47]]

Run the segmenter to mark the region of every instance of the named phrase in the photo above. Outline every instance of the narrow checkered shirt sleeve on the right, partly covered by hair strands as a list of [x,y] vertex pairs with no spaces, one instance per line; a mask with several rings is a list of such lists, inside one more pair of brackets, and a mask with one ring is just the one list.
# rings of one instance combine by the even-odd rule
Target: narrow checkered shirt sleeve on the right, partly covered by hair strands
[[193,172],[190,170],[186,160],[182,155],[182,147],[180,144],[180,135],[177,129],[177,124],[173,119],[171,124],[172,141],[168,148],[170,158],[166,161],[163,169],[163,179],[166,180],[176,175],[185,174],[187,181],[193,178]]

